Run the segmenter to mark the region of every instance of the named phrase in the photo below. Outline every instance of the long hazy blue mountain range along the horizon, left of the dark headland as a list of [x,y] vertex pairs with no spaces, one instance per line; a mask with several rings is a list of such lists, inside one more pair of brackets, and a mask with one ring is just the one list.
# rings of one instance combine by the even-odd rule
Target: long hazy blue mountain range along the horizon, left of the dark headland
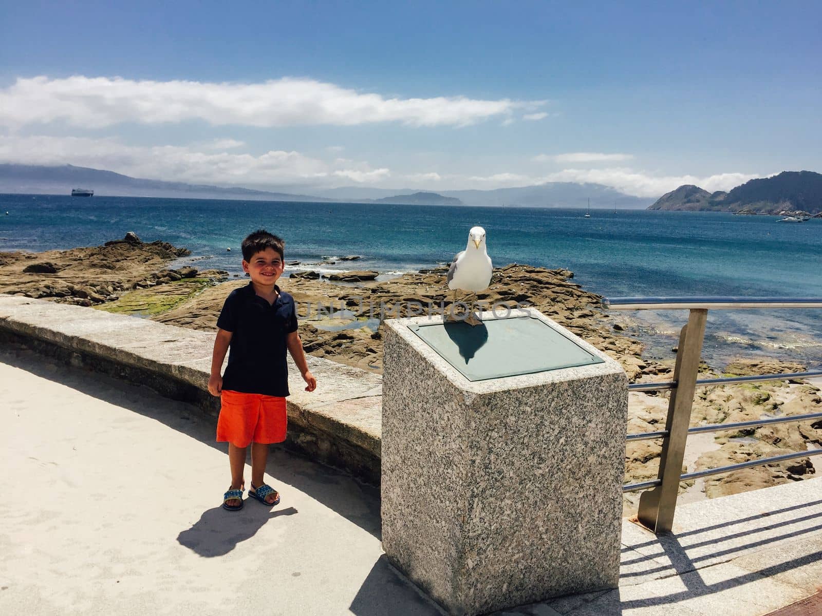
[[[289,186],[301,191],[273,192],[233,186],[208,186],[185,182],[164,182],[129,177],[121,173],[63,165],[45,167],[35,165],[0,164],[0,192],[22,194],[69,195],[72,188],[88,188],[95,195],[137,197],[172,197],[182,199],[238,199],[267,201],[344,201],[356,203],[411,204],[411,205],[474,205],[543,208],[584,208],[591,200],[591,208],[644,209],[653,201],[649,198],[624,195],[601,184],[547,182],[537,186],[498,188],[492,191],[417,191],[413,189],[386,189],[360,186],[339,188],[307,188]],[[313,194],[304,194],[311,191]]]

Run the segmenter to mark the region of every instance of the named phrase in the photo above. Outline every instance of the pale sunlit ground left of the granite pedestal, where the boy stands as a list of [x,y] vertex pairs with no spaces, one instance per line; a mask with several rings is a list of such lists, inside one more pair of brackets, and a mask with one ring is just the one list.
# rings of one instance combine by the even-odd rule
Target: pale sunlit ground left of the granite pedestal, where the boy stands
[[6,351],[0,399],[0,614],[437,614],[387,565],[373,488],[275,450],[282,503],[227,512],[192,407]]

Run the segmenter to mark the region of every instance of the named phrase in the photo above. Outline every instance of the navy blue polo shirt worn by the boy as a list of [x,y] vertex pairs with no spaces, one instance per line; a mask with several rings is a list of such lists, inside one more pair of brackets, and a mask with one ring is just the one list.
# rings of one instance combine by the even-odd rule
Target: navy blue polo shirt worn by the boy
[[252,283],[234,289],[219,313],[217,327],[231,332],[223,388],[235,392],[289,395],[286,338],[297,331],[294,299],[275,286],[274,304],[258,296]]

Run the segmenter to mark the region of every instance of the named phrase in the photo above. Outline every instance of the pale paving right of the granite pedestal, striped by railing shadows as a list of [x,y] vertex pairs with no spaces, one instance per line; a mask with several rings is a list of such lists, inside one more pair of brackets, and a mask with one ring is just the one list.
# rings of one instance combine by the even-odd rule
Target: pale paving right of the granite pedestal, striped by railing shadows
[[678,507],[668,536],[625,522],[620,587],[547,606],[572,616],[761,616],[820,590],[822,480],[812,479]]

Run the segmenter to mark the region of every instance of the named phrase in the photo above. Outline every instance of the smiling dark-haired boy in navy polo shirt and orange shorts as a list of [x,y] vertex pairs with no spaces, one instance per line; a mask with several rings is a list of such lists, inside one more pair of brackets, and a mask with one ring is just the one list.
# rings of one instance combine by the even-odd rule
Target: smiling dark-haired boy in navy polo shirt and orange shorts
[[[263,476],[268,445],[285,440],[286,349],[307,384],[306,391],[316,388],[297,333],[293,297],[276,284],[283,274],[284,245],[282,239],[262,229],[242,241],[242,270],[251,282],[229,294],[217,319],[208,390],[220,396],[217,441],[229,443],[231,485],[223,496],[223,508],[229,511],[242,509],[248,444],[252,446],[248,495],[266,505],[279,503],[279,493],[266,485]],[[229,365],[220,376],[229,345]]]

